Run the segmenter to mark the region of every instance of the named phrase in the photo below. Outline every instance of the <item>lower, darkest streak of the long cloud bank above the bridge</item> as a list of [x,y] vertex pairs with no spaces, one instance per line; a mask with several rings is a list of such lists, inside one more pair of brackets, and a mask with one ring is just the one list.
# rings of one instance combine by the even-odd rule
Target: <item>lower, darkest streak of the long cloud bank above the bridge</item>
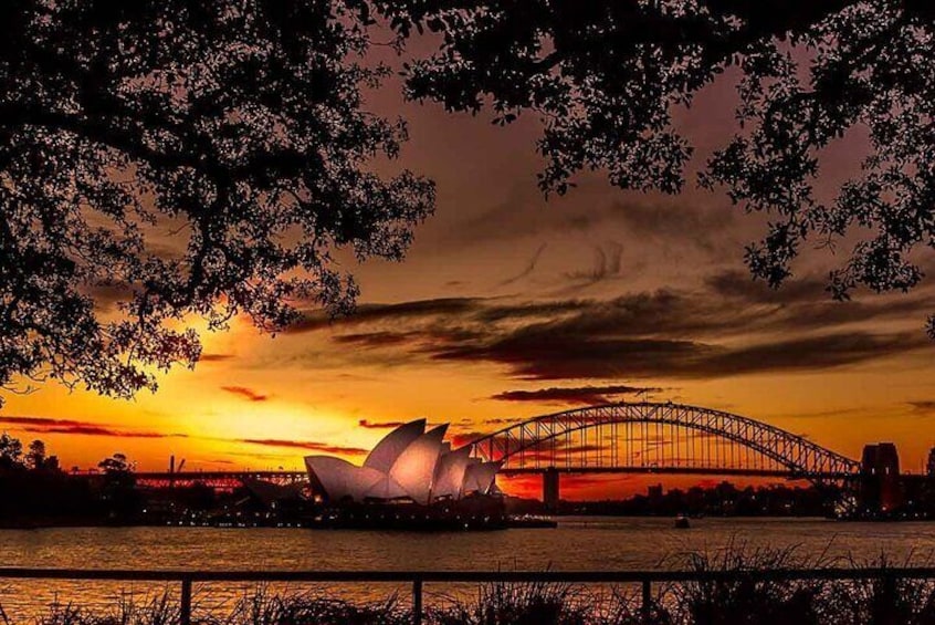
[[[642,313],[637,316],[642,316]],[[536,323],[516,329],[491,327],[473,340],[445,337],[435,331],[430,337],[411,333],[398,341],[408,345],[410,357],[427,356],[440,362],[495,363],[524,379],[621,379],[621,378],[713,378],[767,372],[819,371],[859,364],[929,346],[922,332],[876,334],[850,331],[797,337],[791,332],[743,343],[722,343],[715,327],[731,332],[732,324],[712,320],[707,326],[683,320],[682,332],[696,325],[704,340],[662,338],[664,323],[647,315],[641,336],[639,323],[613,322],[598,312],[559,322]],[[677,327],[677,320],[673,326]],[[659,326],[659,327],[655,327]],[[654,330],[652,330],[654,329]],[[637,334],[630,337],[630,332]],[[789,337],[786,337],[789,336]],[[366,333],[350,338],[361,346],[374,346]],[[382,333],[376,343],[390,341]]]

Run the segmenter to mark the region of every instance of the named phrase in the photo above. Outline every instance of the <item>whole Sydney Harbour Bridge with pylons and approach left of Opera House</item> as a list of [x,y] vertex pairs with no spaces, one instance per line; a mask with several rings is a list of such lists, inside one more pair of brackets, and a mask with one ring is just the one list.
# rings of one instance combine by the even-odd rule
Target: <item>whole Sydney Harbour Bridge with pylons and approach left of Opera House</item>
[[[899,476],[895,448],[892,460],[885,454],[890,444],[868,446],[883,448],[882,460],[868,449],[862,460],[854,460],[748,417],[671,402],[544,415],[468,445],[474,457],[501,461],[503,476],[542,475],[543,500],[549,507],[558,502],[561,473],[740,476],[808,480],[818,487],[853,486],[878,472]],[[199,482],[225,488],[248,478],[290,483],[305,477],[301,471],[188,471],[141,472],[137,480],[153,487]]]

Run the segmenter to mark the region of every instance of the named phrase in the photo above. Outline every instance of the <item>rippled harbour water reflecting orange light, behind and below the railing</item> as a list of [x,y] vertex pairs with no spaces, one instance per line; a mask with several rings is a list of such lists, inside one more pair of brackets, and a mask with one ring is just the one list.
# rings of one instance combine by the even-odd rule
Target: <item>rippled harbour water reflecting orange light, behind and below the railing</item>
[[[669,518],[563,517],[556,529],[476,533],[213,528],[67,528],[0,531],[0,565],[156,570],[635,570],[675,569],[689,553],[794,549],[812,562],[935,564],[935,523],[850,523],[824,519],[700,519],[691,529]],[[153,583],[0,581],[0,606],[18,623],[62,605],[101,606],[175,593]],[[307,586],[274,586],[300,592]],[[378,601],[407,590],[392,584],[315,587]],[[254,586],[199,585],[202,610],[223,608]],[[427,587],[429,598],[452,588]]]

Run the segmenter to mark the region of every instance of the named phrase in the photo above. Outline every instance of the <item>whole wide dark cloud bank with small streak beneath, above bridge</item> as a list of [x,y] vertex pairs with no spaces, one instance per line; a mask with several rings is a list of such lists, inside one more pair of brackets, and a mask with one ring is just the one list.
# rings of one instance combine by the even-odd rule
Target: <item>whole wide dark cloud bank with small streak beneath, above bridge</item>
[[[612,263],[611,263],[612,264]],[[606,265],[609,271],[611,267]],[[371,306],[353,333],[333,340],[379,354],[387,365],[413,361],[494,363],[516,378],[539,381],[717,378],[855,365],[928,346],[924,333],[883,333],[868,322],[923,314],[915,298],[833,302],[806,277],[771,291],[739,271],[711,277],[703,289],[660,289],[609,300],[504,302],[423,300]],[[380,322],[410,317],[403,329]],[[418,320],[418,321],[417,321]],[[353,357],[357,351],[349,352]],[[391,357],[391,361],[387,358]],[[505,400],[595,404],[608,393],[544,389]]]

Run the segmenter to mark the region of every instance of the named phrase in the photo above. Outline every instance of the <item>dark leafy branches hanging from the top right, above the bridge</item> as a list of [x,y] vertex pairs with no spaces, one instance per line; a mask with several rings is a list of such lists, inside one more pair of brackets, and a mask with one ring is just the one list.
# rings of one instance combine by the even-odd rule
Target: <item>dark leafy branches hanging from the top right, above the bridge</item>
[[[672,112],[728,67],[743,124],[701,173],[749,211],[771,215],[747,249],[757,278],[779,285],[811,240],[857,240],[830,275],[907,291],[913,252],[935,247],[935,4],[926,0],[376,0],[401,40],[440,35],[408,67],[413,98],[507,124],[544,123],[539,183],[564,194],[582,169],[624,189],[677,192],[692,146]],[[866,135],[861,171],[824,199],[820,152]],[[935,316],[928,332],[935,337]]]

